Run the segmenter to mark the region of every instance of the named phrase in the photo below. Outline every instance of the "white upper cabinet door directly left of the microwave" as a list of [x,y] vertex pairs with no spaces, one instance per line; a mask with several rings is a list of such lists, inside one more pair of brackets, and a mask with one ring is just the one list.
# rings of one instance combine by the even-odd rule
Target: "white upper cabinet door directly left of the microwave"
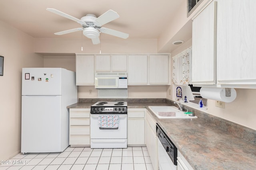
[[94,55],[76,55],[76,85],[94,85]]

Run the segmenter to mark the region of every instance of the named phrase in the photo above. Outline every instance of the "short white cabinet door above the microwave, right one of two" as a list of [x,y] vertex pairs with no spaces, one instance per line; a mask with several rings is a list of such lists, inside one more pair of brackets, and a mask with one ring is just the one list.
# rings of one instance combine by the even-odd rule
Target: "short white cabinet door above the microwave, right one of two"
[[126,55],[112,55],[112,71],[113,72],[126,72],[127,59]]

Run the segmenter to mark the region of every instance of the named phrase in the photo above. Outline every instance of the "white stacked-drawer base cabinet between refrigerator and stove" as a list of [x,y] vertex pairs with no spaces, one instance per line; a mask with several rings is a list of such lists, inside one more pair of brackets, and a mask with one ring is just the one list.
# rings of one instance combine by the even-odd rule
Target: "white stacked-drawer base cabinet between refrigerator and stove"
[[69,145],[90,145],[90,109],[69,109]]

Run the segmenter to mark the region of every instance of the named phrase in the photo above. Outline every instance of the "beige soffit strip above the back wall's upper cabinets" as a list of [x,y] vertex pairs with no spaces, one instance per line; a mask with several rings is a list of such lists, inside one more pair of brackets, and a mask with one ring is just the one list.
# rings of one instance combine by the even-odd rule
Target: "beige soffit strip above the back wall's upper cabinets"
[[157,39],[102,39],[98,45],[87,38],[35,39],[36,53],[100,53],[100,49],[101,53],[157,53]]

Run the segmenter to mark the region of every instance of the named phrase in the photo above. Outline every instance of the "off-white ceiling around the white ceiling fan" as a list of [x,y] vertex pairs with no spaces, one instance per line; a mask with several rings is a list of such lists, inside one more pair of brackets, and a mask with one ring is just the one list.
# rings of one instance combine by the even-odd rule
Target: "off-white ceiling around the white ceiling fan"
[[[128,33],[131,39],[157,39],[178,6],[185,0],[0,0],[0,20],[32,37],[80,38],[80,31],[66,35],[55,32],[80,24],[46,10],[54,8],[75,18],[96,17],[114,10],[120,18],[104,25]],[[102,34],[101,38],[116,38]]]

